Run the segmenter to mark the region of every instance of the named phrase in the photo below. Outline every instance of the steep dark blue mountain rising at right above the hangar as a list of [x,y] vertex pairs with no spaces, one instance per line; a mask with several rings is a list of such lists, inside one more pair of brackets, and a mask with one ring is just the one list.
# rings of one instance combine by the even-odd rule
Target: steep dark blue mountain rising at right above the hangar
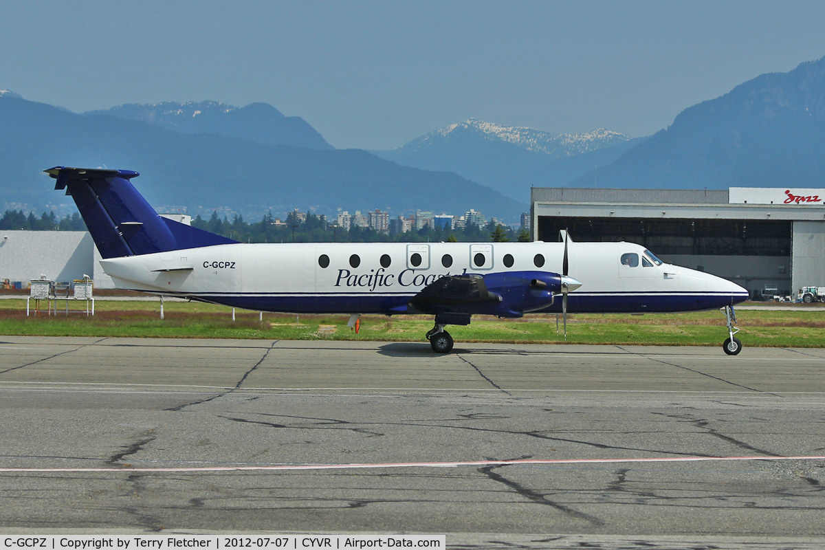
[[568,186],[641,189],[825,186],[825,58],[762,74]]

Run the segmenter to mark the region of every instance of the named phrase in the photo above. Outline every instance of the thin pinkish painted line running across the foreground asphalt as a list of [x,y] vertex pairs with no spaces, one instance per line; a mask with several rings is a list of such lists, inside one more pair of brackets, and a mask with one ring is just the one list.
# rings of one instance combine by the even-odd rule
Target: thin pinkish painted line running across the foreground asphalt
[[299,470],[346,470],[377,468],[460,468],[475,466],[549,465],[549,464],[612,464],[612,463],[678,463],[678,462],[729,462],[735,460],[825,460],[825,456],[799,457],[669,457],[669,458],[559,458],[555,460],[477,460],[471,462],[412,462],[373,464],[284,464],[280,466],[202,466],[185,468],[0,468],[0,473],[10,472],[290,472]]

